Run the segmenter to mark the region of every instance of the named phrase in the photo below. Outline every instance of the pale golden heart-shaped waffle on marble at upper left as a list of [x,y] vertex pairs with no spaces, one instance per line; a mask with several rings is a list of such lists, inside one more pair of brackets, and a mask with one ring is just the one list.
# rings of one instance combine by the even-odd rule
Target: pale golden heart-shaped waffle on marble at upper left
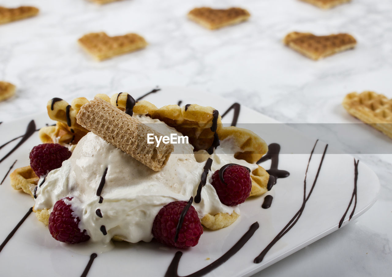
[[137,34],[108,36],[106,33],[89,33],[78,40],[80,46],[97,60],[129,53],[147,46],[145,39]]

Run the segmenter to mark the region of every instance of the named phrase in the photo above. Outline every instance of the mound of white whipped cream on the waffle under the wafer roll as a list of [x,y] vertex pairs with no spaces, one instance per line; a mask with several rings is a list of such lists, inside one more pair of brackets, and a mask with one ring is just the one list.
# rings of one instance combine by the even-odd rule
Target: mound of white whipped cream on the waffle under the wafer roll
[[[140,115],[134,117],[162,135],[181,135],[160,120]],[[220,202],[209,182],[212,173],[225,164],[241,164],[251,170],[258,167],[257,164],[235,159],[234,153],[238,150],[228,138],[221,141],[221,146],[212,155],[206,151],[196,152],[196,160],[191,144],[174,144],[166,166],[157,172],[103,138],[87,133],[62,167],[49,172],[36,192],[34,208],[51,210],[57,200],[73,197],[66,202],[72,205],[74,215],[80,218],[80,230],[87,230],[91,241],[108,244],[116,236],[129,242],[149,242],[152,239],[152,223],[159,210],[170,202],[188,201],[196,195],[204,161],[208,157],[213,159],[211,171],[201,190],[201,202],[193,203],[193,206],[200,217],[207,213],[239,213],[238,206],[229,207]],[[103,201],[99,203],[97,189],[106,168],[101,193]],[[102,218],[97,215],[97,209],[100,209]],[[101,231],[102,226],[105,226],[106,235]]]

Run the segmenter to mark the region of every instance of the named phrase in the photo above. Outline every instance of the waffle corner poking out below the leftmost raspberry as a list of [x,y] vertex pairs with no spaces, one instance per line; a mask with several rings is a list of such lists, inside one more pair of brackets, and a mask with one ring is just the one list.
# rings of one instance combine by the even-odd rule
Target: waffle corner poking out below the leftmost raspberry
[[11,186],[15,190],[23,190],[25,193],[33,197],[33,191],[38,184],[38,176],[34,173],[30,166],[17,168],[9,175]]

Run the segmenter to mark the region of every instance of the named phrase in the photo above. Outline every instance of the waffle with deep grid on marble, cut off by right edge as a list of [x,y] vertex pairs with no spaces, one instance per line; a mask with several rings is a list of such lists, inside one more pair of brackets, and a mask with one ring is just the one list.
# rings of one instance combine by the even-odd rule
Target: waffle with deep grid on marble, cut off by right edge
[[352,92],[342,105],[350,115],[392,138],[392,100],[373,91]]

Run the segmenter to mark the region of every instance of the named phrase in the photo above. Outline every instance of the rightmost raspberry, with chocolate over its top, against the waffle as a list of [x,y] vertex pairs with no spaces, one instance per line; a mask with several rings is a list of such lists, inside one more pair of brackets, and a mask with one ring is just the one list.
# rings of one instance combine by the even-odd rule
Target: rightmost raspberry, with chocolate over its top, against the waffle
[[252,190],[248,168],[233,164],[223,169],[222,175],[224,182],[219,177],[219,170],[214,172],[211,180],[221,202],[227,206],[245,202]]

